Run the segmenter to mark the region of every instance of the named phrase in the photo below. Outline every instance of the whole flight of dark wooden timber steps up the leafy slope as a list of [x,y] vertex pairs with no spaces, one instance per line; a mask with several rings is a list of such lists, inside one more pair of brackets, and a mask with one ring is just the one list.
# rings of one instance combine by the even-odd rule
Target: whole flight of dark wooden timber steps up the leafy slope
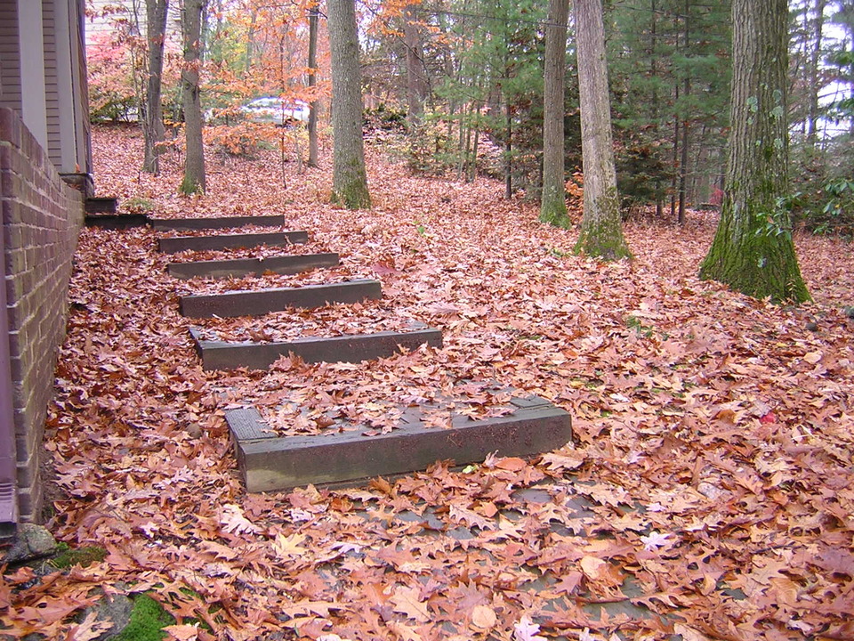
[[[285,231],[286,219],[270,216],[219,218],[149,218],[155,231],[192,231],[188,236],[158,240],[163,253],[237,247],[282,247],[282,254],[264,258],[170,263],[176,279],[257,276],[265,272],[293,274],[340,264],[334,253],[289,255],[287,247],[305,243],[308,231]],[[233,233],[244,225],[278,228],[276,231]],[[201,232],[201,233],[199,233]],[[312,309],[326,304],[348,304],[383,296],[378,280],[349,280],[298,288],[256,288],[219,294],[180,296],[180,312],[189,318],[263,316],[289,308]],[[263,329],[263,328],[260,328]],[[439,329],[417,324],[405,331],[375,332],[335,337],[300,337],[281,342],[229,342],[203,338],[190,329],[204,369],[268,369],[281,356],[295,354],[307,362],[363,362],[386,358],[419,345],[442,345]],[[533,456],[560,448],[572,437],[568,413],[537,396],[508,390],[506,413],[473,420],[451,417],[445,429],[425,420],[431,406],[402,409],[399,426],[387,434],[365,434],[356,426],[337,425],[328,433],[278,436],[253,407],[225,413],[248,491],[278,491],[309,483],[348,484],[378,475],[423,470],[437,460],[457,465],[483,460],[490,452],[501,456]]]

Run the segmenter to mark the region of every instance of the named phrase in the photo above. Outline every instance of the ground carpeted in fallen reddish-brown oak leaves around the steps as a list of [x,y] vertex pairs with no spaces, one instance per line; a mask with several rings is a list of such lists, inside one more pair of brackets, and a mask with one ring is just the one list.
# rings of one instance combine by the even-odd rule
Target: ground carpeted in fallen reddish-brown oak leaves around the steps
[[[47,426],[50,526],[107,554],[41,578],[5,572],[12,631],[92,639],[99,624],[72,618],[87,604],[149,591],[184,640],[854,638],[854,321],[842,309],[854,246],[799,234],[815,302],[780,307],[697,280],[710,214],[682,228],[631,221],[634,259],[603,264],[573,256],[577,231],[537,223],[536,205],[503,199],[501,184],[414,177],[388,142],[368,149],[374,208],[350,212],[328,204],[326,153],[283,174],[276,151],[211,152],[207,193],[181,198],[180,158],[154,178],[137,169],[135,130],[93,137],[99,195],[163,217],[284,212],[310,234],[295,250],[342,255],[335,270],[228,288],[383,282],[383,301],[283,312],[279,328],[415,320],[445,346],[368,367],[205,372],[177,295],[222,283],[166,276],[190,256],[158,255],[149,229],[84,230]],[[264,322],[209,327],[239,337]],[[466,380],[549,399],[575,442],[348,490],[242,488],[229,407],[263,407],[285,433],[322,429],[277,414],[299,395],[382,427],[395,402],[432,389],[465,405]]]

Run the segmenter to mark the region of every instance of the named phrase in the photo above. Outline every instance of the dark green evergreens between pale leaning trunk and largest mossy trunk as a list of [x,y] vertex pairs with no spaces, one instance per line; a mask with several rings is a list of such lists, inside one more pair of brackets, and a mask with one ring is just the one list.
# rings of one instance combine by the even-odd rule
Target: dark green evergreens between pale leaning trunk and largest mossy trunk
[[627,0],[608,39],[620,193],[673,209],[721,183],[729,111],[729,0]]

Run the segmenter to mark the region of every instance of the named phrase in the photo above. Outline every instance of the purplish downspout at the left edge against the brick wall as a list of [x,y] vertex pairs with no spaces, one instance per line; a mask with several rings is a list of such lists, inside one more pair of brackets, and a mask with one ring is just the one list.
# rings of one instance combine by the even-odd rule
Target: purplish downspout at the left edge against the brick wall
[[0,220],[0,539],[14,535],[18,523],[18,461],[12,408],[12,355],[6,300],[6,226]]

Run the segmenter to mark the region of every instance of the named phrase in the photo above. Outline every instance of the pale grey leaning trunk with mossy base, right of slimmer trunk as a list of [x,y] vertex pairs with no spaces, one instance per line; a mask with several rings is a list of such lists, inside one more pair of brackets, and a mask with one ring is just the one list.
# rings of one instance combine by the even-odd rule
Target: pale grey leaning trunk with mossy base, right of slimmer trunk
[[584,164],[584,219],[575,250],[617,260],[631,256],[616,193],[614,145],[601,0],[576,0],[576,48]]

